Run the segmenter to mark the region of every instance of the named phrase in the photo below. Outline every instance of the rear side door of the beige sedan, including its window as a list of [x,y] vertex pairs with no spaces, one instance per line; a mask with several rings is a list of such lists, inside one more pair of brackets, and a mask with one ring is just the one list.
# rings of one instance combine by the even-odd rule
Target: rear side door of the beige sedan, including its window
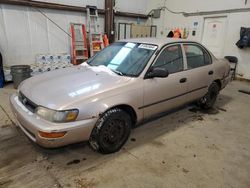
[[213,81],[213,65],[210,54],[199,44],[183,44],[187,62],[187,101],[204,96]]

